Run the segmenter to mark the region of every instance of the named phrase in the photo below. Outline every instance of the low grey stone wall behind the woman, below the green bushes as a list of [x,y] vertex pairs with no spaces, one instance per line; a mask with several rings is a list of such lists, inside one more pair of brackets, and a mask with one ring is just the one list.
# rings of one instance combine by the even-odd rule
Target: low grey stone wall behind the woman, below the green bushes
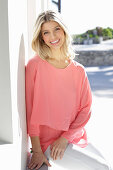
[[113,65],[113,50],[107,51],[76,51],[75,60],[84,66]]

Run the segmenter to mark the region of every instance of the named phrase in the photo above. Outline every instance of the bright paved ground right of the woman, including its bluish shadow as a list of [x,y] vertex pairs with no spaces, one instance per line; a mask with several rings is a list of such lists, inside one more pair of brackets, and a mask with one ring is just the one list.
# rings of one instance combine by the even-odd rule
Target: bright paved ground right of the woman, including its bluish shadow
[[113,167],[113,66],[86,67],[93,94],[89,140]]

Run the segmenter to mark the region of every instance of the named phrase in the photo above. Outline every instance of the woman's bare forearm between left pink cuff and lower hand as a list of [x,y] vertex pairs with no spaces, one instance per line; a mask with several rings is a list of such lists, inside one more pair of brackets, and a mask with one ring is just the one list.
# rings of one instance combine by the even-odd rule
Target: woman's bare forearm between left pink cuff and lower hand
[[32,150],[34,152],[42,152],[39,136],[33,136],[33,137],[30,137],[30,139],[31,139],[31,144],[32,144]]

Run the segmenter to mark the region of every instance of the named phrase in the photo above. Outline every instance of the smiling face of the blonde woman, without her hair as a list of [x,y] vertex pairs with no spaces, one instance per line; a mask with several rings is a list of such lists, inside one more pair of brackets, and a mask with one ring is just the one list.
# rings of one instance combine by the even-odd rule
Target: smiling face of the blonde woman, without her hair
[[42,25],[42,38],[51,50],[62,47],[65,39],[64,30],[55,21],[49,21]]

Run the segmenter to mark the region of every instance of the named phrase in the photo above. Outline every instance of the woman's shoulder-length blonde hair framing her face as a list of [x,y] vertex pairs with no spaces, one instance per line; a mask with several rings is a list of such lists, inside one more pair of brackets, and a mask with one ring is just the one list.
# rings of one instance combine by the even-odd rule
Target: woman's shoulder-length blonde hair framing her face
[[[39,14],[35,26],[34,26],[34,34],[32,39],[32,49],[43,59],[52,58],[50,48],[44,43],[41,35],[41,27],[42,24],[49,21],[57,22],[61,28],[64,30],[65,41],[61,47],[62,57],[65,56],[67,59],[74,59],[75,53],[71,46],[71,36],[65,24],[63,23],[63,19],[61,14],[48,10]],[[64,59],[64,57],[63,57]]]

